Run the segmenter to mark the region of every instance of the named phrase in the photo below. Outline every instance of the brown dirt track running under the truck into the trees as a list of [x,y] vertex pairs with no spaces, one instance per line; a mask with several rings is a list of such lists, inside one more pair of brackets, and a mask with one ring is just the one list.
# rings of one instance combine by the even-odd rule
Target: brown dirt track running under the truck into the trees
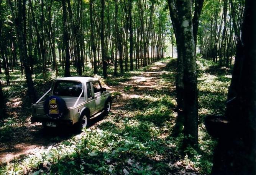
[[[166,63],[167,61],[157,62],[150,66],[147,71],[131,72],[128,81],[120,82],[117,86],[107,87],[112,92],[121,93],[120,97],[113,100],[112,113],[115,114],[115,111],[122,109],[131,98],[139,98],[142,94],[155,90],[160,81],[160,76],[167,73],[164,70]],[[126,91],[125,88],[131,90]],[[22,113],[22,110],[24,110],[20,107],[22,104],[19,100],[11,105],[16,105],[13,114]],[[94,123],[93,127],[97,126],[99,122],[99,119],[94,119],[92,121]],[[22,159],[28,154],[39,154],[49,146],[57,145],[61,141],[78,134],[81,133],[75,132],[72,128],[53,129],[46,132],[41,123],[32,124],[29,117],[25,125],[15,127],[8,139],[0,142],[0,164],[4,165],[14,158]]]

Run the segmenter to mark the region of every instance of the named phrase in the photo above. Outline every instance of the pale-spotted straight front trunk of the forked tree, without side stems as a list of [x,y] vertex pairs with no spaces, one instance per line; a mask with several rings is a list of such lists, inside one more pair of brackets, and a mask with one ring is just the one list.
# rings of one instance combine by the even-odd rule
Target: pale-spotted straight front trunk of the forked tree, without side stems
[[[195,45],[193,36],[191,1],[184,0],[181,8],[182,21],[182,55],[184,65],[184,134],[185,146],[194,148],[198,145],[198,104]],[[184,18],[185,16],[185,18]]]

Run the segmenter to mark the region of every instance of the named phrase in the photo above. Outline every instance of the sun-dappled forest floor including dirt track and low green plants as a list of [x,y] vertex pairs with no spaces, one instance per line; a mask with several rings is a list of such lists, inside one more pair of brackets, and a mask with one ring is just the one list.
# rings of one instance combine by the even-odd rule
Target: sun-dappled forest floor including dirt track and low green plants
[[[25,92],[12,93],[6,87],[9,117],[0,125],[0,173],[209,173],[215,141],[203,120],[207,114],[224,112],[231,70],[203,59],[197,65],[200,151],[186,150],[194,157],[180,156],[182,134],[171,137],[177,115],[173,111],[176,60],[169,58],[102,80],[112,92],[112,110],[82,133],[32,124]],[[43,94],[49,86],[50,82],[38,83],[36,89]]]

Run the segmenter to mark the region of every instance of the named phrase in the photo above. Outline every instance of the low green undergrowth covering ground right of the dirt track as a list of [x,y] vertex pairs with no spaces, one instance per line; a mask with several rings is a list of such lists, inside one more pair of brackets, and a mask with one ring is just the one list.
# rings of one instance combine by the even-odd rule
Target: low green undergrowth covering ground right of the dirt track
[[[0,174],[209,174],[215,141],[203,121],[208,114],[223,114],[231,70],[220,68],[225,70],[218,73],[215,63],[197,58],[200,150],[188,147],[185,152],[194,156],[182,157],[183,134],[171,136],[177,115],[173,111],[176,60],[160,62],[166,67],[159,70],[157,86],[140,89],[138,98],[129,99],[81,134],[2,166]],[[110,77],[105,83],[114,86],[143,71]],[[114,103],[120,104],[121,93],[114,92],[113,97]]]

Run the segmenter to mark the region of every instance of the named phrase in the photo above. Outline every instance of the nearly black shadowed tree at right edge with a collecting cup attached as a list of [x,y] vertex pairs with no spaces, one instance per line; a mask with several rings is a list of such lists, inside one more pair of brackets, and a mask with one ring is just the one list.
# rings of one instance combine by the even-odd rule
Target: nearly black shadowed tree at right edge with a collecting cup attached
[[208,132],[218,138],[213,158],[213,175],[256,174],[255,9],[255,0],[245,1],[225,116],[206,118]]

